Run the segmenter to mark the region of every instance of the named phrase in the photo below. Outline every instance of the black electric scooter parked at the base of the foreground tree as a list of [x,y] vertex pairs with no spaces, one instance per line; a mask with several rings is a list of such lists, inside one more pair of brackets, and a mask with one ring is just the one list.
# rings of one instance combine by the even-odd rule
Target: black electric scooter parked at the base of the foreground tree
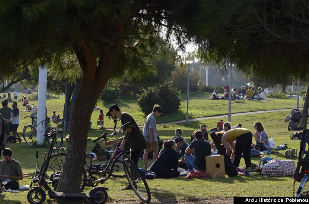
[[[61,130],[60,130],[61,131]],[[62,132],[62,131],[61,131]],[[42,204],[45,202],[46,194],[42,187],[47,190],[47,194],[49,198],[52,199],[70,199],[70,200],[91,200],[94,204],[103,204],[107,200],[107,192],[108,188],[106,187],[95,187],[90,190],[89,193],[65,193],[65,192],[54,192],[47,182],[45,181],[46,171],[49,165],[50,156],[52,154],[55,138],[56,138],[56,130],[47,134],[48,137],[53,138],[49,147],[49,152],[46,158],[46,162],[44,165],[43,171],[40,173],[40,180],[37,186],[33,186],[31,190],[29,190],[27,199],[30,204]],[[46,135],[44,135],[46,136]]]

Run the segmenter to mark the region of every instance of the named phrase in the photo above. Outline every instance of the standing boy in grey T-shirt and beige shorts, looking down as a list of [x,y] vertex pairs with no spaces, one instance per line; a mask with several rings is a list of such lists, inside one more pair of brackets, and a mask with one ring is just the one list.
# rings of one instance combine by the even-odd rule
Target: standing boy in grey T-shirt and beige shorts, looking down
[[154,150],[152,154],[153,161],[158,158],[159,145],[158,145],[158,133],[157,133],[157,122],[155,117],[158,117],[162,114],[163,110],[161,106],[155,104],[152,113],[150,113],[145,120],[143,135],[145,137],[147,148],[144,150],[143,159],[144,159],[144,168],[147,169],[147,159],[148,153],[151,150]]

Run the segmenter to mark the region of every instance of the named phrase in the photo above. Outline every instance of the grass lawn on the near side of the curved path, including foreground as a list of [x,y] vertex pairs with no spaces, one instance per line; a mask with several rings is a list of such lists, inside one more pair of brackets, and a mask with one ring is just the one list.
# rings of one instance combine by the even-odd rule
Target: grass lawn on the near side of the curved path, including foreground
[[[288,149],[299,149],[299,140],[290,140],[290,134],[294,132],[287,131],[287,122],[283,122],[280,118],[285,118],[286,114],[290,111],[269,112],[253,115],[233,116],[232,124],[242,123],[244,128],[248,128],[253,131],[254,121],[260,121],[264,126],[269,138],[273,137],[275,143],[287,142]],[[161,116],[162,117],[162,116]],[[190,135],[194,130],[199,129],[199,125],[202,123],[207,124],[208,130],[212,128],[213,124],[220,119],[209,119],[201,121],[189,122],[188,127],[184,123],[180,124],[164,124],[158,125],[158,134],[163,140],[170,139],[174,136],[176,128],[184,130],[183,136],[189,140]],[[224,117],[222,120],[226,121]],[[98,137],[103,131],[92,130],[89,131],[88,137],[92,140]],[[210,131],[208,131],[210,133]],[[210,139],[211,141],[211,139]],[[102,143],[101,143],[102,144]],[[66,146],[66,142],[64,142]],[[91,151],[94,143],[88,142],[87,153]],[[39,151],[39,161],[42,163],[44,152],[48,150],[45,145],[44,148],[35,148],[28,146],[24,142],[21,144],[8,144],[7,147],[13,151],[13,158],[20,161],[23,172],[34,172],[36,159],[35,151]],[[274,150],[277,151],[277,150]],[[286,160],[284,158],[285,150],[278,150],[278,153],[271,154],[273,158]],[[294,157],[295,164],[297,157]],[[87,160],[88,162],[88,160]],[[260,157],[252,157],[252,162],[259,164]],[[148,160],[148,166],[151,165],[151,161]],[[138,166],[142,168],[143,162],[139,161]],[[244,161],[241,159],[239,166],[244,166]],[[152,198],[157,199],[159,202],[165,203],[166,200],[176,200],[180,198],[184,199],[202,199],[206,200],[207,197],[232,197],[232,196],[292,196],[293,176],[288,177],[267,177],[265,175],[257,175],[253,177],[225,177],[215,179],[187,179],[185,177],[177,177],[170,179],[158,178],[154,180],[147,180],[150,187]],[[30,185],[31,179],[25,178],[20,181],[20,185]],[[121,200],[136,200],[139,202],[138,197],[133,191],[120,191],[127,185],[126,178],[109,178],[104,184],[99,186],[108,187],[108,201],[115,202]],[[296,189],[299,185],[296,182]],[[89,192],[91,188],[86,187],[84,192]],[[308,190],[306,186],[305,190]],[[50,200],[47,200],[51,203]],[[0,203],[27,203],[27,191],[17,194],[5,192],[0,197]],[[55,203],[55,202],[53,202]]]

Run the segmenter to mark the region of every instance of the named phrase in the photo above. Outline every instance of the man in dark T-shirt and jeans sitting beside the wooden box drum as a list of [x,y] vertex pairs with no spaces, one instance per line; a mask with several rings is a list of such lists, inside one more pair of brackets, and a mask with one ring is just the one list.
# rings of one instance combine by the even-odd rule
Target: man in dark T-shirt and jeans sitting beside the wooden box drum
[[[195,140],[187,147],[184,152],[184,160],[188,166],[189,171],[206,170],[205,156],[211,155],[210,143],[204,140],[204,136],[201,130],[193,132]],[[192,153],[195,153],[195,157]]]

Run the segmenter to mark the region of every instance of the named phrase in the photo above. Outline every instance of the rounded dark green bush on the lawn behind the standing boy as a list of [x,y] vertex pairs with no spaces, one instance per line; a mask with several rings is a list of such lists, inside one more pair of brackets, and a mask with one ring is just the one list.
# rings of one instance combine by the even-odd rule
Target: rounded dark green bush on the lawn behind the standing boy
[[180,90],[173,88],[173,82],[142,89],[138,96],[138,106],[145,114],[152,112],[154,104],[159,104],[164,113],[174,113],[180,109]]

